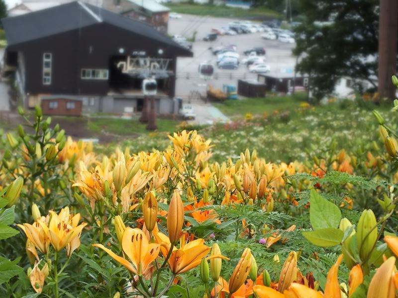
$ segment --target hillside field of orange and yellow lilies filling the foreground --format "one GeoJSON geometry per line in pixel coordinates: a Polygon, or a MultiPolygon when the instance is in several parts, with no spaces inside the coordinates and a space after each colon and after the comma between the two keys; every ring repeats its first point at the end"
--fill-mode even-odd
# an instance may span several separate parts
{"type": "Polygon", "coordinates": [[[396,297],[396,108],[369,108],[107,147],[36,108],[2,137],[0,297],[396,297]]]}

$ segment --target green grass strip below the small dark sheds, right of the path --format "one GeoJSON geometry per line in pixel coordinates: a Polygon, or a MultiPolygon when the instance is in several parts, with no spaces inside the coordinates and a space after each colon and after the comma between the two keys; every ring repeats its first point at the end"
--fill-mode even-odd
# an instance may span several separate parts
{"type": "Polygon", "coordinates": [[[306,101],[305,93],[297,93],[294,96],[269,96],[265,98],[248,98],[242,100],[226,100],[222,103],[214,103],[221,112],[227,116],[239,116],[251,113],[262,115],[273,111],[285,111],[298,108],[306,101]]]}

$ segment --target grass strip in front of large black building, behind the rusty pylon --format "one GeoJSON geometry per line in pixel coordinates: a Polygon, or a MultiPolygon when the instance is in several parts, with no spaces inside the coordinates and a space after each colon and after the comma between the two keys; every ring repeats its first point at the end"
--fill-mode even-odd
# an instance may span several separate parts
{"type": "MultiPolygon", "coordinates": [[[[171,119],[157,119],[156,124],[159,132],[173,132],[179,122],[171,119]]],[[[146,134],[146,124],[140,123],[138,120],[127,119],[109,119],[98,118],[90,119],[87,128],[93,133],[105,131],[107,133],[120,136],[128,136],[132,134],[146,134]]]]}

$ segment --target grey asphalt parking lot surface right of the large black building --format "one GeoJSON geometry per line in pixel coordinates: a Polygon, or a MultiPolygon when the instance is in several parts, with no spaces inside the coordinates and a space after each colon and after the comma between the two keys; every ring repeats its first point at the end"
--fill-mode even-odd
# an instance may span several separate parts
{"type": "Polygon", "coordinates": [[[246,66],[240,65],[237,70],[219,70],[215,68],[215,74],[212,80],[204,81],[199,78],[198,67],[201,62],[210,61],[214,66],[216,56],[211,54],[210,47],[222,45],[236,45],[237,52],[240,54],[240,60],[246,56],[244,50],[251,47],[264,47],[267,51],[265,63],[270,66],[271,72],[283,72],[293,70],[296,58],[292,55],[294,44],[282,43],[278,40],[265,40],[261,38],[262,33],[250,33],[239,35],[218,36],[215,41],[203,41],[203,37],[211,29],[219,29],[228,26],[233,19],[214,18],[208,16],[182,15],[181,19],[169,20],[169,34],[183,35],[191,38],[197,31],[196,42],[193,43],[193,58],[179,58],[177,65],[177,83],[176,95],[188,99],[192,90],[199,91],[203,95],[206,90],[206,83],[211,83],[215,87],[221,88],[225,83],[237,85],[240,78],[257,78],[257,74],[249,72],[246,66]]]}

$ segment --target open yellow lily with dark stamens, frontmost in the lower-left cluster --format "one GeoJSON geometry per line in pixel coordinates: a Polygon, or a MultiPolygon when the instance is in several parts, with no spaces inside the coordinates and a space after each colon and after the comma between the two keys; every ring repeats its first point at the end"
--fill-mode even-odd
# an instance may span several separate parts
{"type": "MultiPolygon", "coordinates": [[[[80,240],[74,241],[73,246],[71,245],[72,240],[76,237],[80,237],[80,234],[86,224],[80,224],[80,214],[75,215],[69,221],[69,209],[66,212],[65,209],[61,210],[60,214],[56,214],[54,211],[50,211],[51,219],[49,226],[47,227],[45,224],[42,224],[43,229],[48,234],[50,238],[50,242],[53,245],[56,251],[60,251],[62,248],[69,246],[69,256],[73,250],[77,247],[77,243],[80,245],[80,240]],[[72,250],[73,249],[73,250],[72,250]]],[[[68,248],[67,248],[68,252],[68,248]]]]}

